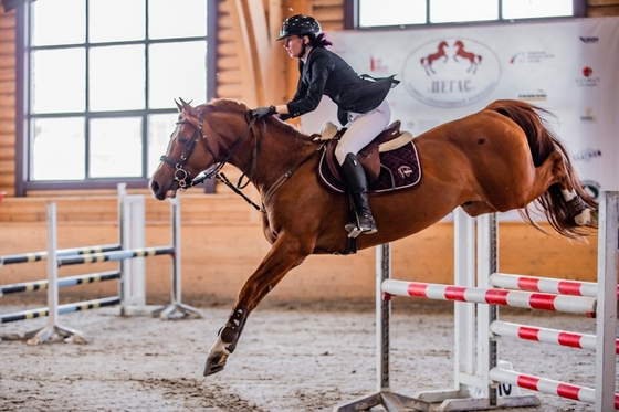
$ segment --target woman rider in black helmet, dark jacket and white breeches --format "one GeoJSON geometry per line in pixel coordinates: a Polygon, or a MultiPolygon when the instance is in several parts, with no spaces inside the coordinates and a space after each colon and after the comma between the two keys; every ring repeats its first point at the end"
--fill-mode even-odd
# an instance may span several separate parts
{"type": "Polygon", "coordinates": [[[285,120],[313,112],[327,95],[337,104],[337,117],[347,130],[339,139],[335,157],[353,197],[357,224],[346,230],[375,233],[376,223],[368,202],[368,183],[357,154],[389,125],[391,109],[385,97],[399,81],[394,76],[371,78],[359,76],[337,54],[326,50],[332,45],[321,24],[310,15],[296,14],[284,21],[277,40],[291,57],[298,57],[298,80],[293,99],[285,105],[258,107],[251,110],[255,118],[279,115],[285,120]]]}

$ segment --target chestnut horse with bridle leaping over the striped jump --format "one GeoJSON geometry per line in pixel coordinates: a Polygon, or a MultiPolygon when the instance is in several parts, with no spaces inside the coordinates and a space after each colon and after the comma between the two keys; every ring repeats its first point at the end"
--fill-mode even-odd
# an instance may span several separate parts
{"type": "MultiPolygon", "coordinates": [[[[167,152],[149,182],[154,197],[175,198],[199,173],[218,177],[223,165],[233,165],[260,193],[262,228],[272,245],[209,350],[203,370],[209,376],[223,370],[248,316],[288,271],[311,254],[344,253],[349,200],[317,177],[322,146],[315,136],[276,117],[256,122],[241,102],[213,99],[196,107],[181,102],[167,152]]],[[[597,228],[598,204],[545,126],[544,112],[524,102],[496,101],[416,137],[421,181],[370,197],[378,232],[360,235],[358,247],[415,234],[458,207],[471,216],[517,210],[543,230],[529,203],[560,235],[585,241],[597,228]]]]}

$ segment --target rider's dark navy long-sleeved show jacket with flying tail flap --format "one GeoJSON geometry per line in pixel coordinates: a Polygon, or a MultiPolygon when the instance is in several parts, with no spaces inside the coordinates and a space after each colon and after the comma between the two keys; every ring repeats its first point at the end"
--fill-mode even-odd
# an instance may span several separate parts
{"type": "Polygon", "coordinates": [[[282,115],[282,119],[316,109],[323,95],[327,95],[337,105],[337,117],[344,125],[348,112],[367,113],[375,109],[389,89],[399,83],[394,76],[377,80],[361,77],[344,59],[325,47],[313,47],[306,63],[300,59],[298,71],[301,76],[296,93],[287,104],[290,115],[282,115]]]}

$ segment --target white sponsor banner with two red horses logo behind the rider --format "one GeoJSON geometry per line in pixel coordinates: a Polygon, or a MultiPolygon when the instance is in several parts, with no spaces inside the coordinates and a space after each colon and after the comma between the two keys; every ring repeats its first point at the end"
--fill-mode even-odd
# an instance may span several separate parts
{"type": "MultiPolygon", "coordinates": [[[[396,74],[387,99],[392,120],[415,136],[521,99],[546,108],[591,194],[619,190],[619,18],[391,31],[328,32],[331,47],[359,73],[396,74]]],[[[302,127],[337,124],[323,98],[302,127]]]]}

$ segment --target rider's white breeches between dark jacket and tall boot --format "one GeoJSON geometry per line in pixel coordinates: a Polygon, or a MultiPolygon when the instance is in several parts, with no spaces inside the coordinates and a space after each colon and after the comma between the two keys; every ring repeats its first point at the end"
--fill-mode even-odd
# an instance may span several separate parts
{"type": "Polygon", "coordinates": [[[342,136],[335,148],[337,162],[342,165],[348,154],[357,155],[359,150],[389,126],[390,120],[391,108],[387,101],[382,101],[371,112],[348,114],[348,123],[345,126],[348,130],[342,136]]]}

